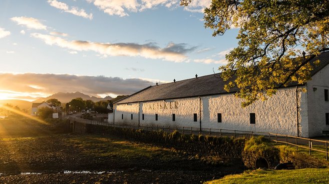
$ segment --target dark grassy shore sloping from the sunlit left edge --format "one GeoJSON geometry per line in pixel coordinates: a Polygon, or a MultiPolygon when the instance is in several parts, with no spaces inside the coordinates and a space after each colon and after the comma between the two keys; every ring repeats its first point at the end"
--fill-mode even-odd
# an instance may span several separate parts
{"type": "Polygon", "coordinates": [[[202,183],[244,169],[239,160],[213,165],[171,146],[52,127],[0,121],[0,183],[202,183]]]}

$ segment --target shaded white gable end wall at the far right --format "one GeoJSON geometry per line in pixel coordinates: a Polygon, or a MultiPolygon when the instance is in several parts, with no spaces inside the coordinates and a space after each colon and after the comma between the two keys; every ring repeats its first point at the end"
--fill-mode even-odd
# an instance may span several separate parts
{"type": "Polygon", "coordinates": [[[307,82],[309,135],[321,136],[322,130],[329,130],[325,124],[325,113],[329,112],[329,101],[324,101],[324,89],[329,89],[329,65],[312,76],[307,82]],[[316,90],[313,90],[313,87],[316,90]]]}

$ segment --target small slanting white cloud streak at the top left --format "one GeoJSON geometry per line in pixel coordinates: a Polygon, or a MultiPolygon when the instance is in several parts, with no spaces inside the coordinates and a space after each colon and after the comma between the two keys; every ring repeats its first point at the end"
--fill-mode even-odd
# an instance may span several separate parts
{"type": "Polygon", "coordinates": [[[88,14],[88,13],[86,13],[86,11],[84,9],[79,9],[78,7],[70,8],[68,4],[66,4],[64,2],[59,2],[57,0],[48,0],[48,3],[51,6],[61,9],[65,12],[72,13],[77,16],[82,16],[84,18],[93,19],[93,13],[88,14]]]}

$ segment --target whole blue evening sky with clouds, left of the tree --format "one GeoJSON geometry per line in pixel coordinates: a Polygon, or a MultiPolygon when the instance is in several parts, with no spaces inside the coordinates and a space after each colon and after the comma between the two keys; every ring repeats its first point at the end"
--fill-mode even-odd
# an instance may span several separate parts
{"type": "Polygon", "coordinates": [[[238,29],[212,36],[210,0],[1,0],[0,99],[115,97],[218,72],[238,29]]]}

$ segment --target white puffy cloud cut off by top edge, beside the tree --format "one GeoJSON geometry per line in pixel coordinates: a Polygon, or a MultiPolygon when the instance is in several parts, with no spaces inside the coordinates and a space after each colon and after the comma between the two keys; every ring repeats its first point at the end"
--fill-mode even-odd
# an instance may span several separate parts
{"type": "MultiPolygon", "coordinates": [[[[128,16],[128,12],[138,12],[157,6],[178,7],[179,0],[87,0],[109,15],[128,16]]],[[[203,12],[210,5],[211,0],[192,0],[184,7],[191,12],[203,12]]]]}

